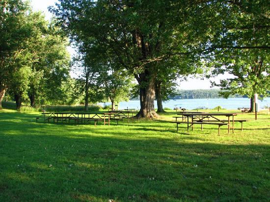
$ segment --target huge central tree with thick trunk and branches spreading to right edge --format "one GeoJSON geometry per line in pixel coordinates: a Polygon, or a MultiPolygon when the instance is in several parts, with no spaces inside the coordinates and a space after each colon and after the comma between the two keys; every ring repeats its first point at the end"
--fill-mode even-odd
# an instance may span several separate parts
{"type": "Polygon", "coordinates": [[[213,52],[218,49],[269,49],[263,41],[242,46],[223,40],[230,39],[226,26],[234,25],[236,12],[254,10],[268,19],[263,0],[60,0],[52,10],[75,41],[92,39],[89,44],[114,55],[135,76],[142,117],[157,116],[155,84],[158,72],[167,68],[159,62],[173,61],[179,64],[172,67],[191,67],[193,72],[202,59],[215,60],[213,52]]]}

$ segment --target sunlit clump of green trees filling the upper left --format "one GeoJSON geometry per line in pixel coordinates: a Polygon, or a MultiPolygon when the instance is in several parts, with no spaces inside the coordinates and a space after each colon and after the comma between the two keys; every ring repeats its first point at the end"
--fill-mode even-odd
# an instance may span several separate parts
{"type": "Polygon", "coordinates": [[[28,97],[31,106],[63,100],[70,58],[61,30],[21,0],[1,1],[0,19],[0,102],[7,89],[18,108],[28,97]]]}

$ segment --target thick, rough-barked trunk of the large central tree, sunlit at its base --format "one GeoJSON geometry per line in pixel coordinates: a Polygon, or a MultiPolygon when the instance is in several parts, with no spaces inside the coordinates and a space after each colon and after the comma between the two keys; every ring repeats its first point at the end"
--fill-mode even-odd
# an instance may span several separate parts
{"type": "MultiPolygon", "coordinates": [[[[142,81],[139,83],[142,84],[142,81]]],[[[145,84],[145,83],[144,83],[145,84]]],[[[159,117],[154,108],[155,78],[151,77],[148,85],[140,85],[140,111],[138,115],[143,118],[159,117]]]]}

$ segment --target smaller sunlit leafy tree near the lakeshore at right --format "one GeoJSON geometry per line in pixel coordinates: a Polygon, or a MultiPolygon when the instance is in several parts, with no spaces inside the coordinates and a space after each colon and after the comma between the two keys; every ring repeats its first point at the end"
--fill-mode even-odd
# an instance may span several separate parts
{"type": "Polygon", "coordinates": [[[230,95],[247,95],[250,98],[250,111],[254,111],[254,95],[260,95],[260,99],[269,96],[270,89],[270,56],[267,51],[232,51],[227,53],[230,64],[222,66],[216,73],[224,71],[235,76],[234,78],[222,79],[219,86],[220,95],[228,98],[230,95]]]}

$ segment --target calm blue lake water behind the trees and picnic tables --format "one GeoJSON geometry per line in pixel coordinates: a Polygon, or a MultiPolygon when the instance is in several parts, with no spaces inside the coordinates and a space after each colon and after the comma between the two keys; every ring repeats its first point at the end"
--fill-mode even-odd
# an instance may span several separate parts
{"type": "MultiPolygon", "coordinates": [[[[99,103],[104,105],[104,103],[99,103]]],[[[109,105],[110,102],[106,102],[109,105]]],[[[259,101],[259,108],[264,108],[264,106],[270,106],[270,98],[264,99],[264,101],[259,101]]],[[[249,107],[250,100],[248,98],[217,98],[217,99],[183,99],[183,100],[169,100],[163,102],[163,107],[168,107],[173,109],[174,107],[182,107],[186,109],[196,109],[197,107],[207,107],[213,109],[216,106],[221,106],[225,109],[237,109],[238,107],[249,107]]],[[[123,101],[118,104],[118,109],[139,109],[139,101],[123,101]]],[[[155,108],[157,108],[157,101],[155,101],[155,108]]]]}

